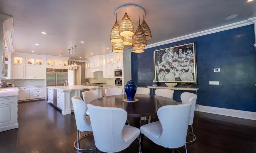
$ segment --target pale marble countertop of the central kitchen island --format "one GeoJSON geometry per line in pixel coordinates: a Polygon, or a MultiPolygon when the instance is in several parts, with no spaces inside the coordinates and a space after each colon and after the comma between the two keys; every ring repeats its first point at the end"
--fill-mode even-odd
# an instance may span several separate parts
{"type": "Polygon", "coordinates": [[[102,87],[73,85],[73,86],[52,86],[52,87],[50,86],[47,88],[53,88],[60,91],[73,91],[73,90],[84,90],[84,89],[100,89],[102,87]]]}

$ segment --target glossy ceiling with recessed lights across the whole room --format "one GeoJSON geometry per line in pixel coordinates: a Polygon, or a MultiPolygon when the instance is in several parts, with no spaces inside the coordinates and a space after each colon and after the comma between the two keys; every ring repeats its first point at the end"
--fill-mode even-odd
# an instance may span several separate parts
{"type": "Polygon", "coordinates": [[[152,32],[152,39],[147,42],[150,45],[256,16],[256,0],[246,1],[0,0],[0,11],[13,16],[16,52],[68,56],[69,47],[84,41],[76,53],[84,58],[111,51],[109,37],[115,23],[114,12],[125,4],[144,8],[152,32]],[[232,14],[238,17],[225,20],[232,14]]]}

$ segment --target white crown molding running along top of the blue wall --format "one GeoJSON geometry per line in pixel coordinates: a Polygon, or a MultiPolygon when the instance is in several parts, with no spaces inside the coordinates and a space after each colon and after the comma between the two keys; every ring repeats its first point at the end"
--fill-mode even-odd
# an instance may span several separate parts
{"type": "Polygon", "coordinates": [[[160,45],[165,45],[165,44],[169,44],[169,43],[174,43],[176,41],[181,41],[181,40],[185,40],[185,39],[189,39],[189,38],[199,37],[199,36],[203,36],[203,35],[207,35],[207,34],[211,34],[211,33],[216,33],[216,32],[220,32],[220,31],[225,31],[225,30],[229,30],[229,29],[243,27],[243,26],[247,26],[247,25],[250,25],[250,24],[253,24],[253,23],[256,22],[256,17],[250,18],[250,19],[245,20],[245,21],[232,23],[232,24],[228,24],[226,26],[217,27],[217,28],[213,28],[213,29],[209,29],[209,30],[205,30],[205,31],[201,31],[201,32],[197,32],[197,33],[193,33],[193,34],[189,34],[189,35],[185,35],[185,36],[181,36],[181,37],[161,41],[161,42],[158,42],[158,43],[150,44],[150,45],[147,45],[145,47],[145,49],[160,46],[160,45]]]}

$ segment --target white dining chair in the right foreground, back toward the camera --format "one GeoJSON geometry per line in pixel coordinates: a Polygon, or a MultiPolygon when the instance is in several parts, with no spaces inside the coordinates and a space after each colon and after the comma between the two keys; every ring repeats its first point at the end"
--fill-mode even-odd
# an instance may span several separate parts
{"type": "MultiPolygon", "coordinates": [[[[159,121],[141,126],[140,131],[159,146],[175,149],[185,145],[192,102],[158,109],[159,121]]],[[[173,150],[172,150],[173,151],[173,150]]]]}

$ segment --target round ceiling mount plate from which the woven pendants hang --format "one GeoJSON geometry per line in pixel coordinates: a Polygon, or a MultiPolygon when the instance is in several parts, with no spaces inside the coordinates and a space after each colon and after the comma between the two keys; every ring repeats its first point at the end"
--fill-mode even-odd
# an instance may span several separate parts
{"type": "Polygon", "coordinates": [[[140,9],[140,21],[143,21],[143,16],[146,16],[145,10],[137,5],[124,5],[119,8],[114,13],[114,16],[116,17],[117,13],[117,20],[119,20],[119,24],[122,20],[122,18],[125,15],[125,8],[126,8],[126,13],[130,17],[132,23],[137,23],[139,21],[139,9],[140,9]]]}

